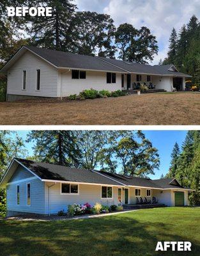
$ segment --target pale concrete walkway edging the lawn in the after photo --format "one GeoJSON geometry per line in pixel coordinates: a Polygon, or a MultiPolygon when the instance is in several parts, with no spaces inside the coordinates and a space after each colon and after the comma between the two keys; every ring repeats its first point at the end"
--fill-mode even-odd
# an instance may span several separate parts
{"type": "Polygon", "coordinates": [[[96,215],[83,215],[83,216],[75,216],[69,218],[67,216],[16,216],[16,217],[9,217],[6,220],[20,220],[20,221],[59,221],[59,220],[84,220],[84,219],[93,219],[93,218],[102,218],[107,216],[112,216],[116,214],[123,214],[127,212],[139,211],[139,209],[133,210],[125,210],[121,212],[109,212],[103,214],[96,214],[96,215]]]}

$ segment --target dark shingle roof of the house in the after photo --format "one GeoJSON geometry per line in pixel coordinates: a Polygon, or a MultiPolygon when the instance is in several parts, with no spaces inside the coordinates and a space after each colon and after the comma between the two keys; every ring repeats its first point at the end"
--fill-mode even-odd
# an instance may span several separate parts
{"type": "Polygon", "coordinates": [[[107,184],[122,186],[138,186],[144,188],[157,188],[157,189],[167,189],[167,188],[183,188],[174,181],[174,179],[143,179],[139,177],[127,177],[125,175],[119,175],[116,173],[100,172],[83,170],[77,168],[70,168],[66,166],[61,166],[58,164],[49,163],[36,163],[32,160],[15,158],[21,164],[26,166],[31,172],[35,173],[38,177],[45,180],[61,180],[69,182],[84,182],[84,183],[94,183],[94,184],[107,184]]]}

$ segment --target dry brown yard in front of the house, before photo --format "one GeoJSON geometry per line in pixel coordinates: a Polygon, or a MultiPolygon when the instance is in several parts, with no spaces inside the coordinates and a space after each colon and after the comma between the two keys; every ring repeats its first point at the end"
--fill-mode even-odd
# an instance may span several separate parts
{"type": "Polygon", "coordinates": [[[0,125],[200,125],[200,93],[0,102],[0,125]]]}

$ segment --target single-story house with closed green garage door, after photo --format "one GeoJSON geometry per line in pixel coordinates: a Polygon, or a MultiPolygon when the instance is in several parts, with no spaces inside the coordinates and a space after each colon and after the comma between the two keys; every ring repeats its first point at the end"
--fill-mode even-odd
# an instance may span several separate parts
{"type": "Polygon", "coordinates": [[[159,204],[188,205],[188,191],[176,179],[142,179],[125,175],[36,163],[14,158],[0,184],[6,188],[8,216],[22,212],[57,214],[68,205],[133,205],[155,196],[159,204]]]}

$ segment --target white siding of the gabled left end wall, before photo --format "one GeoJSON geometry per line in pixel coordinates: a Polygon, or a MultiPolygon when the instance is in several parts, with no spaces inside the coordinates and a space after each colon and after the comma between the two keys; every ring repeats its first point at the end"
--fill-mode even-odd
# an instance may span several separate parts
{"type": "Polygon", "coordinates": [[[8,70],[8,94],[58,97],[58,70],[27,51],[8,70]],[[36,90],[36,70],[40,69],[40,91],[36,90]],[[22,73],[26,70],[26,90],[22,90],[22,73]]]}

